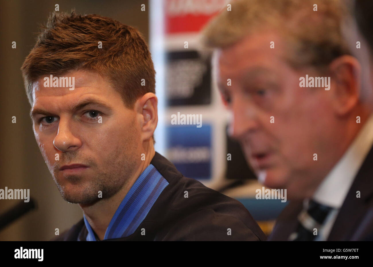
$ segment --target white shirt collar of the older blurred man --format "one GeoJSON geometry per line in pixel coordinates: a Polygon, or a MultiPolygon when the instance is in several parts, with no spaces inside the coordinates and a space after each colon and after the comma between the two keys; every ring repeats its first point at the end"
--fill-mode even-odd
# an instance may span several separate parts
{"type": "Polygon", "coordinates": [[[352,182],[373,145],[373,114],[361,128],[341,159],[332,168],[313,195],[320,204],[340,208],[352,182]]]}

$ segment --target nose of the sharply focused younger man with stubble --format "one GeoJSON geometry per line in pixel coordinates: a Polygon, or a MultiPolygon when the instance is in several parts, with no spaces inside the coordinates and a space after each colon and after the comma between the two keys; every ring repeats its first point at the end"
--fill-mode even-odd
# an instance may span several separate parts
{"type": "Polygon", "coordinates": [[[54,137],[53,145],[60,151],[75,150],[82,145],[81,140],[74,136],[72,125],[68,119],[60,118],[58,132],[56,137],[54,137]]]}

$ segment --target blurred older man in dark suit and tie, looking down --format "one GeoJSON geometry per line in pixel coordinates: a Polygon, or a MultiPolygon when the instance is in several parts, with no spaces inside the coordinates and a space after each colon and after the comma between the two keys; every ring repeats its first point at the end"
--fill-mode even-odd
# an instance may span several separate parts
{"type": "Polygon", "coordinates": [[[290,203],[269,240],[361,240],[373,229],[372,91],[342,38],[341,1],[235,1],[203,32],[231,134],[290,203]]]}

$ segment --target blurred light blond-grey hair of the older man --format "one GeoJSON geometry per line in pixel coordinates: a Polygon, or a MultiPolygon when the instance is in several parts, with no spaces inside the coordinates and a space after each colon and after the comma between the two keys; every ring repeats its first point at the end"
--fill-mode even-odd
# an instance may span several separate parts
{"type": "MultiPolygon", "coordinates": [[[[341,32],[347,10],[341,0],[238,0],[223,9],[202,32],[209,48],[231,46],[250,34],[272,30],[287,42],[286,58],[294,67],[325,68],[333,59],[350,55],[341,32]]],[[[269,46],[269,44],[266,44],[269,46]]]]}

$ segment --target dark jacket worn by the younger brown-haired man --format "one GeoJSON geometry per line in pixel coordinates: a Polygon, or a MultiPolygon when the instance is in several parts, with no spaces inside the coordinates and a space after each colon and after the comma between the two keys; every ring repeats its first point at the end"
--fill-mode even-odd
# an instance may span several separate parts
{"type": "MultiPolygon", "coordinates": [[[[127,237],[109,240],[266,240],[247,209],[235,199],[186,178],[159,153],[151,164],[169,182],[144,221],[127,237]],[[184,198],[188,191],[188,198],[184,198]],[[141,235],[141,229],[145,235],[141,235]],[[231,235],[227,235],[228,228],[231,235]]],[[[80,220],[54,240],[85,240],[80,220]]]]}

